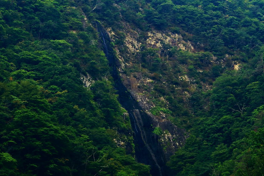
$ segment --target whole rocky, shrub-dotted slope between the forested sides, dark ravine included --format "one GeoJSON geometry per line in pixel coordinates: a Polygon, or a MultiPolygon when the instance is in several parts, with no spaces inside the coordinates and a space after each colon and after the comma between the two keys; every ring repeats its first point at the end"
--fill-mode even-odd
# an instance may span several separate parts
{"type": "MultiPolygon", "coordinates": [[[[231,61],[228,54],[219,58],[203,52],[201,46],[195,49],[192,42],[175,32],[155,28],[141,31],[126,22],[115,30],[97,25],[103,30],[98,32],[106,55],[111,50],[111,58],[107,57],[114,78],[120,79],[116,89],[130,116],[137,161],[151,165],[152,175],[167,175],[165,163],[185,144],[194,123],[195,101],[201,101],[195,95],[211,90],[221,70],[238,70],[239,61],[231,61]],[[123,42],[115,45],[120,38],[123,42]],[[184,57],[191,58],[186,61],[184,57]],[[128,92],[125,97],[120,93],[124,90],[128,92]]],[[[205,101],[199,108],[209,106],[205,101]]]]}

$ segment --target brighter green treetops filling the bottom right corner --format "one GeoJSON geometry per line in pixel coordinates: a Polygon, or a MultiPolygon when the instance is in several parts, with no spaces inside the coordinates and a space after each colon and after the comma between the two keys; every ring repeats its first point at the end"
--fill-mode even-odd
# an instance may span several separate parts
{"type": "Polygon", "coordinates": [[[254,175],[263,173],[263,128],[252,131],[247,138],[235,143],[231,160],[216,164],[216,172],[221,175],[254,175]]]}

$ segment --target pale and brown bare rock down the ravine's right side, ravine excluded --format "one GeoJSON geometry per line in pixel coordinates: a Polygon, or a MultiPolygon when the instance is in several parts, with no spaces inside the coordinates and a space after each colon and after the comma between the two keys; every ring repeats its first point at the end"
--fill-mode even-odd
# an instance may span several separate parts
{"type": "MultiPolygon", "coordinates": [[[[148,114],[148,123],[150,123],[149,125],[151,125],[149,126],[148,129],[150,135],[153,135],[152,131],[155,127],[159,127],[161,128],[162,131],[166,131],[166,134],[156,137],[157,138],[156,142],[159,144],[160,148],[162,148],[161,150],[163,150],[164,153],[165,158],[163,158],[163,162],[166,162],[166,160],[170,157],[170,155],[172,155],[175,152],[178,146],[184,144],[185,139],[187,137],[184,135],[185,131],[183,129],[174,126],[169,120],[166,119],[165,114],[162,115],[162,113],[160,113],[161,114],[160,116],[154,116],[153,114],[150,113],[150,109],[155,107],[155,105],[147,97],[144,96],[144,92],[142,92],[142,90],[139,89],[138,86],[142,83],[145,84],[145,82],[146,83],[153,82],[152,79],[143,77],[142,75],[140,75],[140,73],[139,75],[137,75],[137,77],[128,77],[122,72],[125,65],[129,65],[129,66],[132,65],[131,62],[133,62],[133,60],[136,59],[135,56],[140,51],[140,47],[142,44],[146,45],[147,48],[158,48],[160,50],[162,48],[162,43],[170,44],[177,48],[181,48],[182,50],[193,50],[194,48],[189,41],[182,40],[181,35],[174,34],[171,32],[164,32],[164,31],[152,30],[145,34],[147,35],[147,39],[145,41],[140,42],[141,40],[139,39],[139,35],[141,33],[133,30],[128,24],[124,26],[125,27],[122,30],[122,32],[126,34],[124,40],[124,45],[126,46],[126,55],[121,55],[119,48],[117,47],[115,48],[117,59],[121,63],[120,64],[121,67],[119,67],[118,70],[119,73],[121,73],[123,84],[130,91],[131,99],[132,98],[135,99],[138,102],[138,105],[140,106],[142,111],[148,114]],[[126,62],[124,57],[127,58],[126,62]]],[[[110,36],[111,40],[113,41],[116,40],[117,36],[111,30],[111,28],[107,29],[107,33],[110,36]]],[[[182,79],[187,79],[188,81],[190,81],[190,79],[187,76],[182,77],[182,79]]],[[[134,119],[136,121],[140,120],[139,115],[134,114],[134,119]]],[[[131,121],[131,124],[132,123],[133,121],[131,121]]],[[[140,125],[140,123],[137,125],[140,125]]],[[[146,131],[146,129],[144,130],[146,131]]],[[[142,161],[142,162],[146,163],[146,161],[142,161]]]]}

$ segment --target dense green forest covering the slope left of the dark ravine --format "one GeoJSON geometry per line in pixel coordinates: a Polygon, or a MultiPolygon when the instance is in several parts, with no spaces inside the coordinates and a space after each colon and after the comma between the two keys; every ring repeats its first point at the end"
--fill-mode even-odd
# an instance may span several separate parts
{"type": "Polygon", "coordinates": [[[132,145],[131,125],[90,3],[0,1],[0,175],[150,175],[114,142],[132,145]],[[83,87],[81,73],[97,81],[83,87]]]}

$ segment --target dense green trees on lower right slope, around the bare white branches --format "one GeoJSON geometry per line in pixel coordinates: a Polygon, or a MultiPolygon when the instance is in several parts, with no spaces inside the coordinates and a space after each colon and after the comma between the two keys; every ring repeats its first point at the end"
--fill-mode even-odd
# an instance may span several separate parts
{"type": "Polygon", "coordinates": [[[201,111],[183,148],[168,166],[177,175],[258,175],[263,172],[263,74],[227,71],[214,82],[211,109],[201,111]],[[252,98],[251,98],[252,97],[252,98]],[[253,98],[254,97],[254,98],[253,98]],[[261,99],[261,100],[260,100],[261,99]],[[254,130],[254,131],[252,131],[254,130]],[[256,132],[255,132],[256,131],[256,132]]]}

